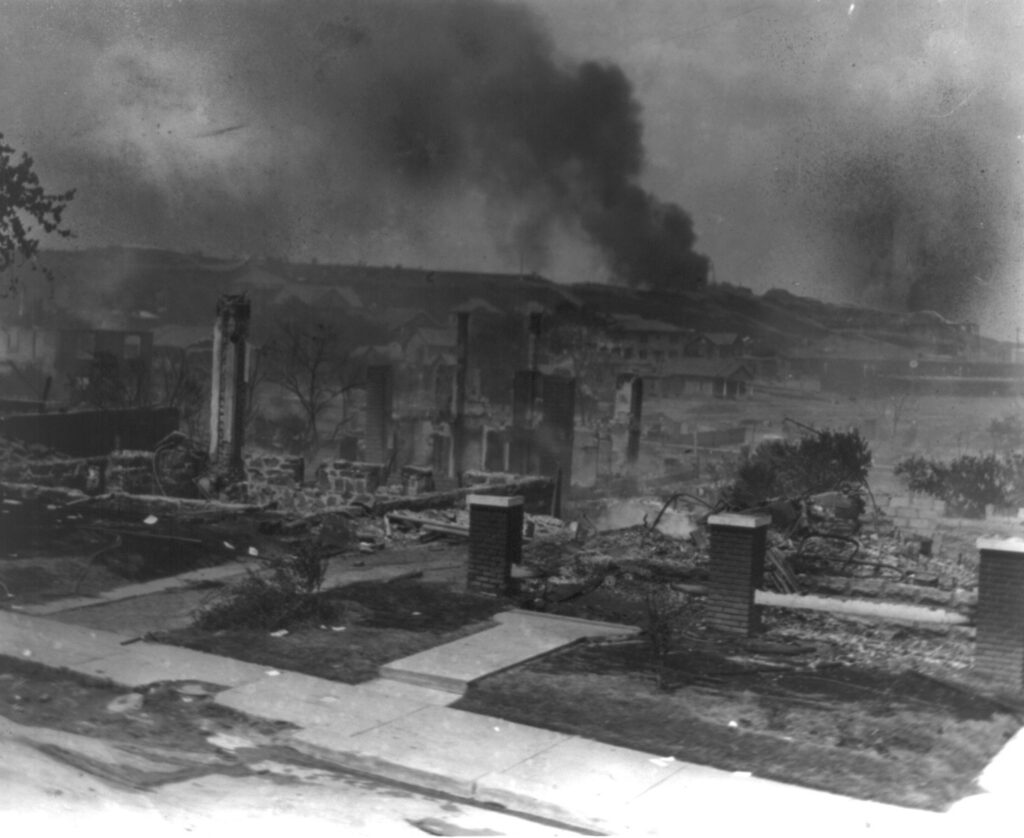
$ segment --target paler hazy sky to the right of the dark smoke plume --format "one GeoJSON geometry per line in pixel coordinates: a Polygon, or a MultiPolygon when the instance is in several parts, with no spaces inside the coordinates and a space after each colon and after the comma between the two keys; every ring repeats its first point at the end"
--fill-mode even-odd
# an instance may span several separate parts
{"type": "Polygon", "coordinates": [[[560,48],[618,61],[645,182],[694,213],[715,278],[936,308],[1012,337],[1024,311],[1019,0],[560,0],[560,48]]]}

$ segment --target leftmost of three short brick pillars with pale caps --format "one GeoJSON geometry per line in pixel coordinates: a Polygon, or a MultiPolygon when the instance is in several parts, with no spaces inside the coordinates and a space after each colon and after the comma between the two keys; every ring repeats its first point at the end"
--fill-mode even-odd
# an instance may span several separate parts
{"type": "Polygon", "coordinates": [[[469,572],[471,591],[501,596],[512,582],[512,564],[522,558],[522,497],[470,495],[469,572]]]}

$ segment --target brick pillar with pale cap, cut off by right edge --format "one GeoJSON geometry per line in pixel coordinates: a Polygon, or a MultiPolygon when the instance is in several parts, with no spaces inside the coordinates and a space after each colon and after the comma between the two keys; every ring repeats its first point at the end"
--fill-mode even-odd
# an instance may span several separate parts
{"type": "Polygon", "coordinates": [[[978,539],[978,626],[974,667],[1024,688],[1024,538],[978,539]]]}

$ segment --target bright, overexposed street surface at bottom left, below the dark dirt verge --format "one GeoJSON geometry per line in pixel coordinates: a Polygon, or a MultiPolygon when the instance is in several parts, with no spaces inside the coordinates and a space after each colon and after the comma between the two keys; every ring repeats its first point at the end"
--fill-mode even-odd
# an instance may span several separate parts
{"type": "MultiPolygon", "coordinates": [[[[98,741],[97,741],[98,742],[98,741]]],[[[7,835],[568,835],[547,825],[433,799],[373,781],[274,760],[247,777],[208,774],[147,790],[99,779],[0,736],[0,812],[7,835]],[[441,830],[447,829],[447,832],[441,830]],[[31,833],[30,833],[31,830],[31,833]],[[456,831],[461,830],[461,831],[456,831]]]]}

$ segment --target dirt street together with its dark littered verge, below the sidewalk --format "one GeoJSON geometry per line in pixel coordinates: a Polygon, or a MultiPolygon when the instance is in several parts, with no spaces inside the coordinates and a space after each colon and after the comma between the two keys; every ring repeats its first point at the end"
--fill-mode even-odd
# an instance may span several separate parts
{"type": "Polygon", "coordinates": [[[558,836],[306,758],[198,682],[130,692],[0,658],[4,835],[558,836]],[[461,830],[461,831],[460,831],[461,830]]]}

